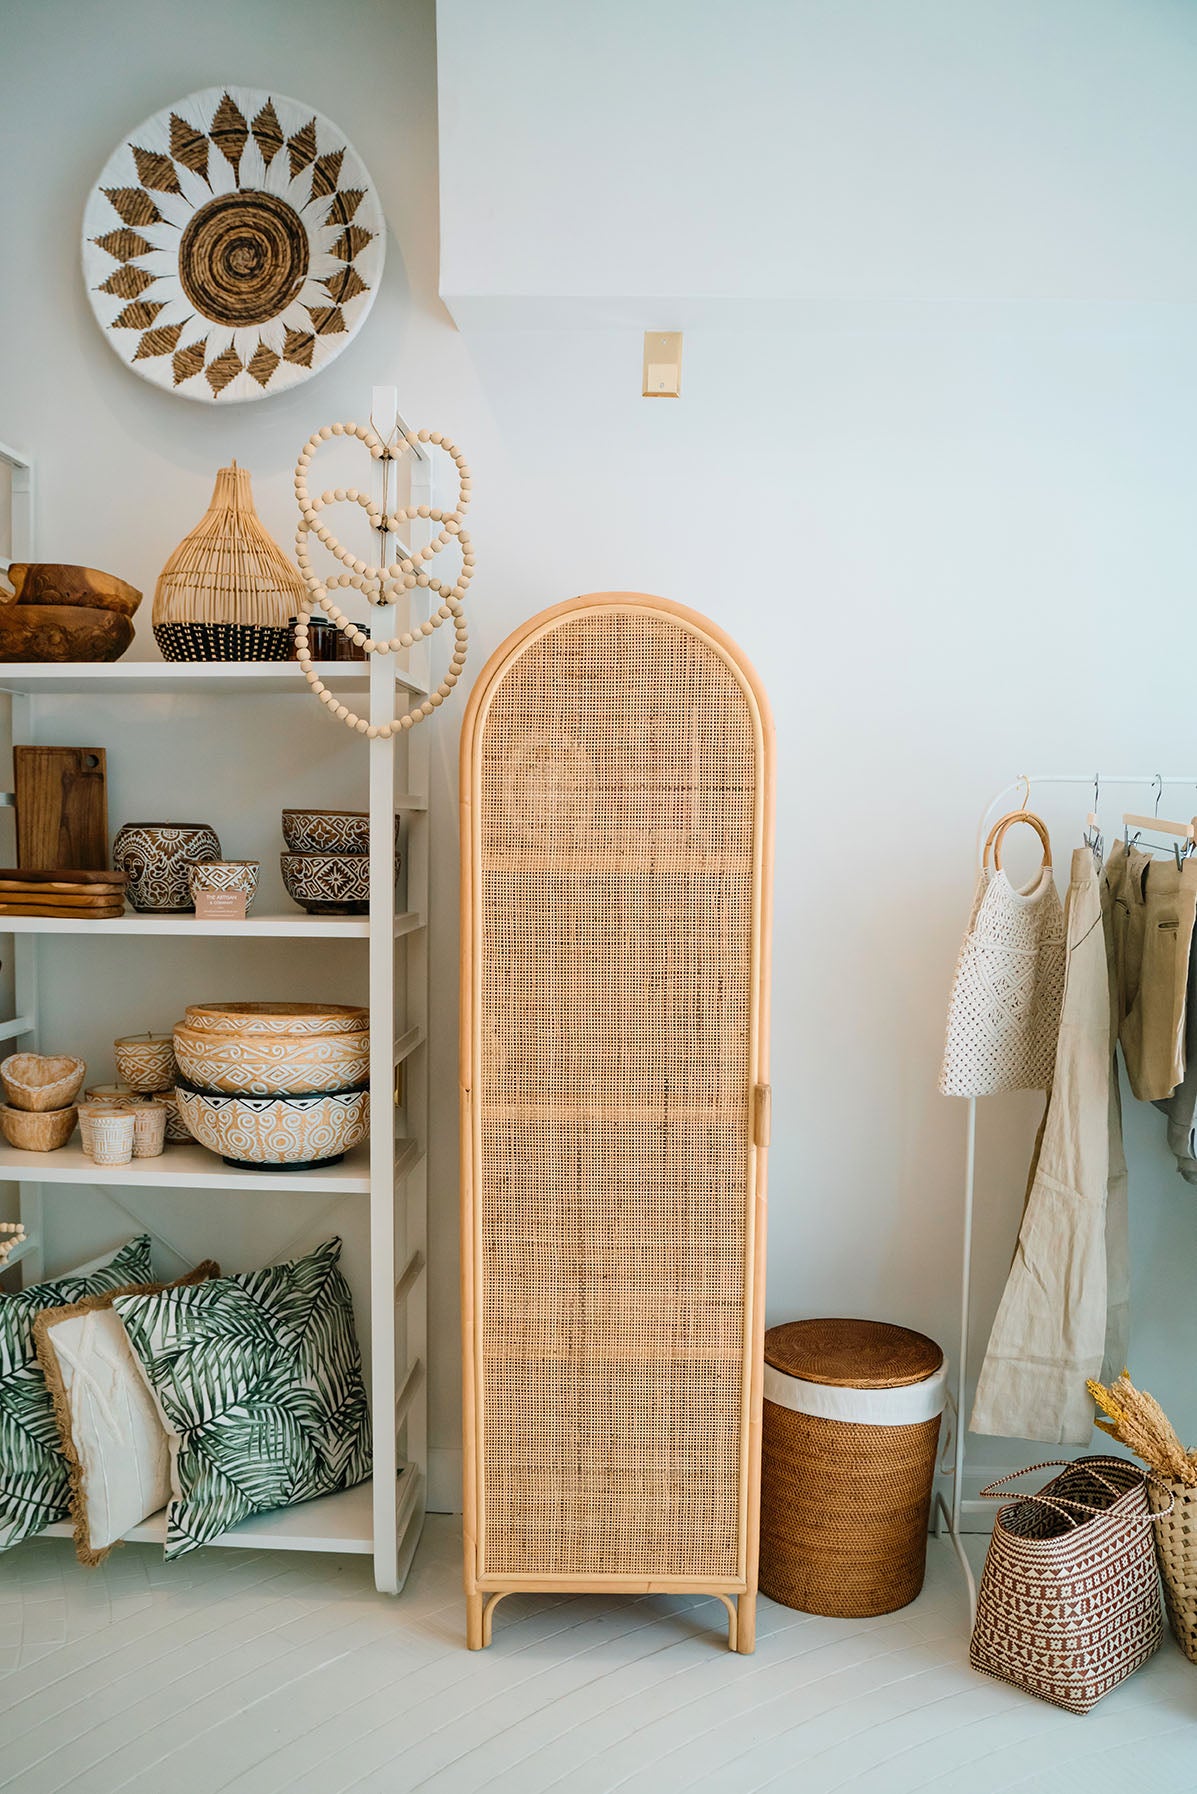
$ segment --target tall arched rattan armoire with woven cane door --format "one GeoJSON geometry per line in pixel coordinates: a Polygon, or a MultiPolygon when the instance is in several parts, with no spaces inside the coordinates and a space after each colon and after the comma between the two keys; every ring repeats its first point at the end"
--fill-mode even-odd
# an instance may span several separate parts
{"type": "Polygon", "coordinates": [[[468,1643],[517,1591],[756,1633],[773,739],[712,623],[533,617],[461,737],[468,1643]]]}

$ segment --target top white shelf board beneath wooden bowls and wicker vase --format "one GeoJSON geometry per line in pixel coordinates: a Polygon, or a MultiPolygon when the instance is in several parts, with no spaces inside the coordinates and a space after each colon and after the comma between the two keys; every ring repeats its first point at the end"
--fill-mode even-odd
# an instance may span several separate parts
{"type": "MultiPolygon", "coordinates": [[[[370,691],[370,666],[357,660],[316,664],[330,691],[370,691]]],[[[395,684],[416,696],[422,680],[395,669],[395,684]]],[[[23,696],[287,696],[307,685],[294,660],[72,660],[65,664],[11,660],[0,664],[0,691],[23,696]]]]}

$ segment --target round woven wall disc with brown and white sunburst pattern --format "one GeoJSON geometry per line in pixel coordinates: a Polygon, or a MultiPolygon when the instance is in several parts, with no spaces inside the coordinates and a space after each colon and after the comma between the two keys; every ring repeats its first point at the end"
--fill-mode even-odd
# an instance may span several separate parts
{"type": "Polygon", "coordinates": [[[147,118],[83,215],[104,335],[135,373],[208,404],[319,373],[361,330],[384,251],[345,133],[251,88],[206,88],[147,118]]]}

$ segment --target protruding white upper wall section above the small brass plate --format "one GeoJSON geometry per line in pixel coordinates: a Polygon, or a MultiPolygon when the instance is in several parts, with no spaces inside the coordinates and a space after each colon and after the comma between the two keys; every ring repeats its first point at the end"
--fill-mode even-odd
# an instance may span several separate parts
{"type": "Polygon", "coordinates": [[[1197,239],[1175,228],[1197,197],[1184,0],[440,0],[436,16],[458,318],[1197,292],[1197,239]]]}

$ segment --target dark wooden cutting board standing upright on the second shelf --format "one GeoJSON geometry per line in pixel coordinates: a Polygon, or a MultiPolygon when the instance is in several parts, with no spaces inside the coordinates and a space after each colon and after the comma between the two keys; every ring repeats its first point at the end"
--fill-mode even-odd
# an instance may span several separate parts
{"type": "Polygon", "coordinates": [[[104,748],[13,748],[13,784],[22,872],[108,867],[104,748]]]}

